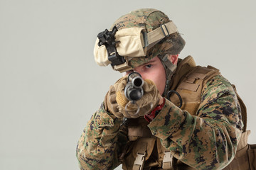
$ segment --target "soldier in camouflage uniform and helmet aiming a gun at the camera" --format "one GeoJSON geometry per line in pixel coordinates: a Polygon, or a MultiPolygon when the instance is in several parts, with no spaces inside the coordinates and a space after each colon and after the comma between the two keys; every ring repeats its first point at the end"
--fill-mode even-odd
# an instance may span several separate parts
{"type": "Polygon", "coordinates": [[[245,106],[218,69],[196,66],[191,56],[178,59],[185,41],[168,16],[142,8],[97,37],[97,64],[111,64],[124,77],[82,132],[80,169],[238,168],[230,162],[247,146],[239,142],[249,134],[245,106]],[[144,81],[137,101],[124,94],[134,72],[144,81]]]}

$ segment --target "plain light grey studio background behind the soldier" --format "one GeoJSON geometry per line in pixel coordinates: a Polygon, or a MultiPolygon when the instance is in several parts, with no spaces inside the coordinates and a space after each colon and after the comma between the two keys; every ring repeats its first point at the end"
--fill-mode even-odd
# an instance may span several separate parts
{"type": "Polygon", "coordinates": [[[236,84],[256,143],[255,2],[0,0],[0,169],[78,169],[80,134],[120,77],[95,64],[97,33],[145,7],[174,20],[181,58],[236,84]]]}

